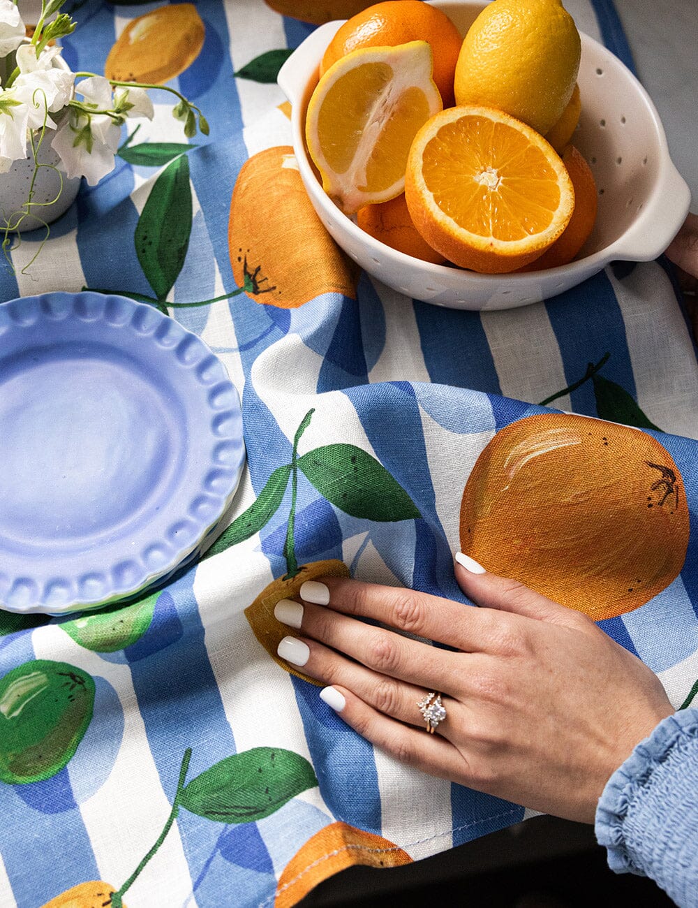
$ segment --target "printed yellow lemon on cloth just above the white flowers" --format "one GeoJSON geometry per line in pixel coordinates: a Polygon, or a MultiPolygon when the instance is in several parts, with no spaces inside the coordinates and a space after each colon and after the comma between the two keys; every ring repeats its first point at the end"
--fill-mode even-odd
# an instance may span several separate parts
{"type": "Polygon", "coordinates": [[[196,6],[161,6],[126,25],[107,56],[104,75],[117,82],[169,82],[201,54],[204,37],[196,6]]]}

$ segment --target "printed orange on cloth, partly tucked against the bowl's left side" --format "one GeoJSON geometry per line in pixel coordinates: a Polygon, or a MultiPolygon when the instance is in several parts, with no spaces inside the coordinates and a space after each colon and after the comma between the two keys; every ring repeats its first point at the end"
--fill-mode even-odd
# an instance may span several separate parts
{"type": "Polygon", "coordinates": [[[356,268],[329,236],[303,188],[290,145],[253,154],[231,197],[228,248],[240,286],[260,274],[260,302],[295,309],[321,293],[356,299],[356,268]]]}

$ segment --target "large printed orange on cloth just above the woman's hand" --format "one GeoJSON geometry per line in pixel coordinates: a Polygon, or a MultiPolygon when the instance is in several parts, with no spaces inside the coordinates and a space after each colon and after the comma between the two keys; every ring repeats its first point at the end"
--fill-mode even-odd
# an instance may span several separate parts
{"type": "Polygon", "coordinates": [[[496,433],[467,479],[462,551],[599,620],[678,576],[689,537],[679,469],[651,435],[543,413],[496,433]]]}

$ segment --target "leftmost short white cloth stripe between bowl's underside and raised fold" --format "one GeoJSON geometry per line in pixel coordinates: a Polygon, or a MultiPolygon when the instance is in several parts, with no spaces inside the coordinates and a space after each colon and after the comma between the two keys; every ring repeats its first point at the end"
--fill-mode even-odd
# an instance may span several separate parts
{"type": "Polygon", "coordinates": [[[371,280],[383,303],[386,341],[378,362],[369,372],[369,381],[430,381],[411,299],[380,281],[371,280]]]}

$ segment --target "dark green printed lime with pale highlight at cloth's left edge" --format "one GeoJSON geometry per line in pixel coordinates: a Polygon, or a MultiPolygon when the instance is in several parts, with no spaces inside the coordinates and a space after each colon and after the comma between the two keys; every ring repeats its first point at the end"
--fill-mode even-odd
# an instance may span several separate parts
{"type": "Polygon", "coordinates": [[[66,662],[33,659],[0,678],[0,780],[38,782],[60,772],[93,716],[94,681],[66,662]]]}

